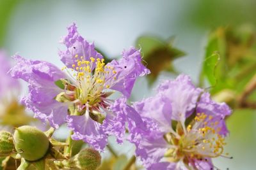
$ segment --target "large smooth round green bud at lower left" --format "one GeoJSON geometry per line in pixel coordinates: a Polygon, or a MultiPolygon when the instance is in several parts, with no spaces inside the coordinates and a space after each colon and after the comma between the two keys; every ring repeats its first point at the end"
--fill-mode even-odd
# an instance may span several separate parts
{"type": "Polygon", "coordinates": [[[15,129],[13,139],[17,152],[29,161],[42,159],[49,149],[49,139],[44,132],[29,125],[15,129]]]}

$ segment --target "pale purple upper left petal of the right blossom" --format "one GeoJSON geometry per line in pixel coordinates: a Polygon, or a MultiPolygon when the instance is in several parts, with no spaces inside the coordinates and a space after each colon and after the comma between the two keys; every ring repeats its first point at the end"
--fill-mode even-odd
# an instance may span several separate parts
{"type": "Polygon", "coordinates": [[[168,97],[159,94],[136,102],[133,107],[141,117],[154,120],[158,124],[159,131],[167,133],[172,129],[172,104],[168,97]]]}

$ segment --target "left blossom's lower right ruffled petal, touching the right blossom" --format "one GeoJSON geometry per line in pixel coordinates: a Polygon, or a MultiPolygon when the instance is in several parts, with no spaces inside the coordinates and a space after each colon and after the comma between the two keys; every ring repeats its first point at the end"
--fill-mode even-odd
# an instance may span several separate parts
{"type": "Polygon", "coordinates": [[[120,98],[110,106],[112,113],[108,113],[103,122],[103,129],[109,135],[116,136],[116,141],[122,143],[125,128],[129,130],[129,141],[133,141],[141,133],[147,131],[147,124],[140,115],[126,104],[126,98],[120,98]]]}

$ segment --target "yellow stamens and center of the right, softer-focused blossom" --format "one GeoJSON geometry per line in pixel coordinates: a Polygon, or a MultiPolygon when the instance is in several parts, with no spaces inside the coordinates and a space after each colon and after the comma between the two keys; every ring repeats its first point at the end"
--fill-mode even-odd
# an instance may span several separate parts
{"type": "Polygon", "coordinates": [[[172,162],[182,160],[186,163],[194,159],[221,156],[226,143],[219,134],[218,125],[218,121],[204,113],[198,113],[186,129],[179,122],[174,134],[164,135],[164,139],[173,146],[166,152],[165,157],[171,158],[172,162]]]}

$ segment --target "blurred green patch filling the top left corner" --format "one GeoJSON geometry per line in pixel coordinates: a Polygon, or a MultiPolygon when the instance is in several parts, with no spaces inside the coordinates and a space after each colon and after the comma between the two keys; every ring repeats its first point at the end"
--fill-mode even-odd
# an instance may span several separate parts
{"type": "Polygon", "coordinates": [[[19,1],[17,0],[1,0],[0,1],[0,46],[4,44],[6,31],[8,30],[8,23],[12,15],[14,7],[19,1]]]}

